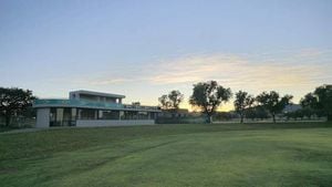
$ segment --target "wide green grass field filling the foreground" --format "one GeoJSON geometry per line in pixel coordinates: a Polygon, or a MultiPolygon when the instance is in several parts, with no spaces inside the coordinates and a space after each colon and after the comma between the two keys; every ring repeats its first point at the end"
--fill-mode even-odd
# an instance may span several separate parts
{"type": "Polygon", "coordinates": [[[332,186],[332,124],[0,134],[0,186],[332,186]]]}

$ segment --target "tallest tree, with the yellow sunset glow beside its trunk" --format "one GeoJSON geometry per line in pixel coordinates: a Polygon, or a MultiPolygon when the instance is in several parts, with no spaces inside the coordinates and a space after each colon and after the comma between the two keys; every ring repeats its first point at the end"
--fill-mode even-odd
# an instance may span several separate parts
{"type": "Polygon", "coordinates": [[[194,84],[193,95],[189,103],[199,107],[207,115],[207,122],[211,123],[211,117],[217,107],[222,102],[228,102],[231,97],[230,89],[218,85],[216,81],[200,82],[194,84]]]}

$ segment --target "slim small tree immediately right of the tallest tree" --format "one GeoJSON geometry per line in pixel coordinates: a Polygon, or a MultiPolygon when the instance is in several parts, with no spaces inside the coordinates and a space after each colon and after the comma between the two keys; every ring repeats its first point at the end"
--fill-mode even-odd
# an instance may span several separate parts
{"type": "Polygon", "coordinates": [[[236,93],[236,100],[234,102],[234,106],[235,106],[236,112],[241,117],[241,123],[243,123],[243,116],[245,116],[246,110],[251,107],[253,102],[255,102],[255,98],[251,95],[249,95],[247,92],[239,91],[238,93],[236,93]]]}

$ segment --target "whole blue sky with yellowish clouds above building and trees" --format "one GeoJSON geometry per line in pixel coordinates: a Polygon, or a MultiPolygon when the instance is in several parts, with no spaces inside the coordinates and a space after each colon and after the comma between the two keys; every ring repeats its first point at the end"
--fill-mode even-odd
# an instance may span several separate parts
{"type": "MultiPolygon", "coordinates": [[[[332,83],[331,0],[0,0],[0,86],[157,105],[193,85],[292,94],[332,83]]],[[[219,110],[228,111],[232,104],[219,110]]]]}

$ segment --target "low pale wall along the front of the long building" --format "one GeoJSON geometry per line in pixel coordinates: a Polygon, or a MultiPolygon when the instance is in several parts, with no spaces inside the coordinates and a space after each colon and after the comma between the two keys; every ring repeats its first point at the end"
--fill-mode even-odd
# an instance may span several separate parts
{"type": "Polygon", "coordinates": [[[77,120],[79,127],[93,126],[134,126],[134,125],[154,125],[154,120],[137,120],[137,121],[112,121],[112,120],[77,120]]]}

